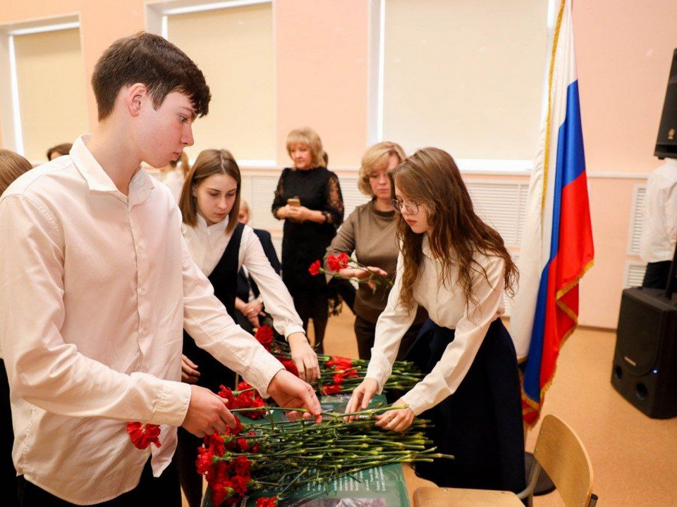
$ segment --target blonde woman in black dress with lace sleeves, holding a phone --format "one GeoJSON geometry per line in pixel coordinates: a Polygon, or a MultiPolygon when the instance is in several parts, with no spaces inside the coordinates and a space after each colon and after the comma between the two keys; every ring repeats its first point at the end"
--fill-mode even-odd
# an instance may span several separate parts
{"type": "Polygon", "coordinates": [[[307,127],[289,132],[287,153],[293,167],[282,171],[272,206],[274,217],[284,220],[282,280],[306,332],[312,319],[317,353],[323,353],[329,318],[327,282],[323,276],[311,276],[308,268],[324,257],[343,222],[343,196],[338,177],[327,170],[317,132],[307,127]]]}

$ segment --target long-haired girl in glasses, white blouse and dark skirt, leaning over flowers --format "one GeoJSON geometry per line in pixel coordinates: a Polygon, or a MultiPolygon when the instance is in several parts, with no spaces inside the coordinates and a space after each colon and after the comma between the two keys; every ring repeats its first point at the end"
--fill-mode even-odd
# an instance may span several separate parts
{"type": "Polygon", "coordinates": [[[504,290],[517,268],[503,239],[472,208],[461,173],[445,151],[425,148],[394,170],[401,244],[396,280],[377,327],[364,382],[346,412],[366,408],[388,379],[418,306],[429,320],[408,358],[424,379],[397,408],[377,416],[386,430],[430,419],[429,437],[456,457],[417,463],[444,487],[525,486],[520,384],[515,349],[501,323],[504,290]]]}

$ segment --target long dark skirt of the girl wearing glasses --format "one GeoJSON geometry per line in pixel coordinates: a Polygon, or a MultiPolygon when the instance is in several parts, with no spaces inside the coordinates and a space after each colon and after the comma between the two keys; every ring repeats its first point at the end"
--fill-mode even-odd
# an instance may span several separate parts
{"type": "MultiPolygon", "coordinates": [[[[427,320],[408,359],[425,373],[453,342],[454,330],[427,320]]],[[[496,319],[489,326],[470,370],[456,392],[420,414],[437,451],[455,459],[416,463],[416,474],[440,487],[525,488],[524,430],[515,346],[496,319]]]]}

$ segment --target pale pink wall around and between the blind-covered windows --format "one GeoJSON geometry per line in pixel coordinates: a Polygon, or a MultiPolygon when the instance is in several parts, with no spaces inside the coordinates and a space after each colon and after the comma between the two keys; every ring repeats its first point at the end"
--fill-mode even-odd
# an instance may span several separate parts
{"type": "MultiPolygon", "coordinates": [[[[10,0],[0,10],[0,24],[79,12],[89,80],[106,46],[145,27],[144,5],[143,0],[10,0]]],[[[367,0],[274,2],[279,165],[288,163],[287,132],[302,125],[322,136],[332,166],[358,165],[368,128],[368,5],[367,0]]],[[[626,255],[633,186],[644,182],[619,176],[647,174],[659,165],[652,153],[676,26],[674,0],[575,0],[596,247],[594,268],[581,284],[583,325],[615,327],[618,319],[625,263],[633,260],[626,255]]],[[[87,104],[94,125],[91,92],[87,104]]]]}

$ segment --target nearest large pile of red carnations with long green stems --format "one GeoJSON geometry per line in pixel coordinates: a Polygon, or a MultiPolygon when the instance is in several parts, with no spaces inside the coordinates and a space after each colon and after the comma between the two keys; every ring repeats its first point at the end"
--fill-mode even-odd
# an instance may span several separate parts
{"type": "MultiPolygon", "coordinates": [[[[276,506],[294,489],[310,482],[327,482],[341,475],[391,463],[453,458],[435,453],[422,429],[426,420],[415,419],[404,433],[384,432],[374,415],[391,408],[372,408],[344,423],[343,413],[323,413],[320,424],[305,420],[274,421],[272,412],[289,408],[261,407],[267,423],[228,428],[225,434],[205,437],[199,449],[197,471],[204,474],[215,507],[233,505],[254,492],[276,496],[257,499],[257,507],[276,506]]],[[[233,412],[243,411],[234,409],[233,412]]]]}

